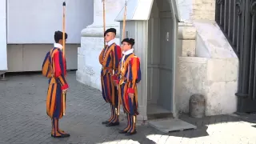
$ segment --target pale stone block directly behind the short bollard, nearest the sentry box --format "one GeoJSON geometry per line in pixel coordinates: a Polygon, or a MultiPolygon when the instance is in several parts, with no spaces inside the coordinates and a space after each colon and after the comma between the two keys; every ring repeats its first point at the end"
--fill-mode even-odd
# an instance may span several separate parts
{"type": "Polygon", "coordinates": [[[175,100],[180,112],[187,113],[192,94],[204,94],[206,58],[180,57],[178,62],[178,90],[175,100]]]}

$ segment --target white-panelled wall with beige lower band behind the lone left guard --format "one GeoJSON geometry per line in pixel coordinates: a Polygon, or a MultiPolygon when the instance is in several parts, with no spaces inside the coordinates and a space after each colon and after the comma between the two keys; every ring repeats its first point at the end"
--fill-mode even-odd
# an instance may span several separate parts
{"type": "MultiPolygon", "coordinates": [[[[61,0],[0,2],[0,74],[42,70],[42,60],[62,30],[61,0]]],[[[67,69],[78,69],[82,28],[93,22],[93,0],[66,1],[67,69]]]]}

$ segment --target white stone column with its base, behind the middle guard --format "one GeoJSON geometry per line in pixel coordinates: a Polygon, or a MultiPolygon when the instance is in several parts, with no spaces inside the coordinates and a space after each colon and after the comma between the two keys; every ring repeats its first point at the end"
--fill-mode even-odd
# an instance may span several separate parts
{"type": "MultiPolygon", "coordinates": [[[[115,41],[120,43],[119,22],[114,18],[122,10],[125,0],[106,0],[106,29],[113,27],[117,30],[115,41]]],[[[98,55],[103,48],[103,5],[102,0],[94,0],[94,23],[82,30],[81,47],[78,48],[77,80],[88,86],[101,90],[101,65],[98,55]]]]}

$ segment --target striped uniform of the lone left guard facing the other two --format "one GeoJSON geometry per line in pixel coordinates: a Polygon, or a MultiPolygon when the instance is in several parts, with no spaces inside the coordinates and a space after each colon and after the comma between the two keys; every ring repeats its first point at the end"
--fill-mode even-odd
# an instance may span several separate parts
{"type": "Polygon", "coordinates": [[[58,119],[63,116],[63,97],[62,90],[69,88],[66,82],[66,59],[62,54],[62,50],[54,47],[52,52],[52,70],[53,77],[49,79],[49,86],[46,98],[46,113],[52,118],[52,135],[60,136],[65,134],[58,128],[58,119]]]}

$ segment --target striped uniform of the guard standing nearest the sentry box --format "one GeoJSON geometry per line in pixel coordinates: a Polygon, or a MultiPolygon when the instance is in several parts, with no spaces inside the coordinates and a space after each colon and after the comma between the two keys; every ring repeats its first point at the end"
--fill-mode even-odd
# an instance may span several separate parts
{"type": "Polygon", "coordinates": [[[133,53],[123,55],[118,68],[118,96],[122,100],[122,107],[127,115],[128,124],[124,131],[135,131],[136,116],[138,115],[137,83],[141,81],[139,58],[133,53]],[[129,93],[134,94],[130,98],[129,93]]]}

